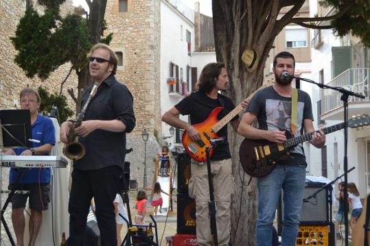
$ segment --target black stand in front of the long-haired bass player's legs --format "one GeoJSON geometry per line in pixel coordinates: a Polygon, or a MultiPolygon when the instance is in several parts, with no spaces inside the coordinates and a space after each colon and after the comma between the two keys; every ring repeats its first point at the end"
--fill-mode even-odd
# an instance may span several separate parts
{"type": "Polygon", "coordinates": [[[207,156],[207,173],[208,173],[208,185],[209,185],[209,219],[211,221],[211,232],[213,233],[213,245],[218,246],[217,237],[217,223],[216,223],[216,201],[213,189],[212,181],[212,171],[211,171],[211,159],[209,158],[209,152],[211,149],[215,148],[218,143],[224,143],[224,138],[212,138],[209,140],[211,146],[205,148],[205,153],[207,156]]]}

